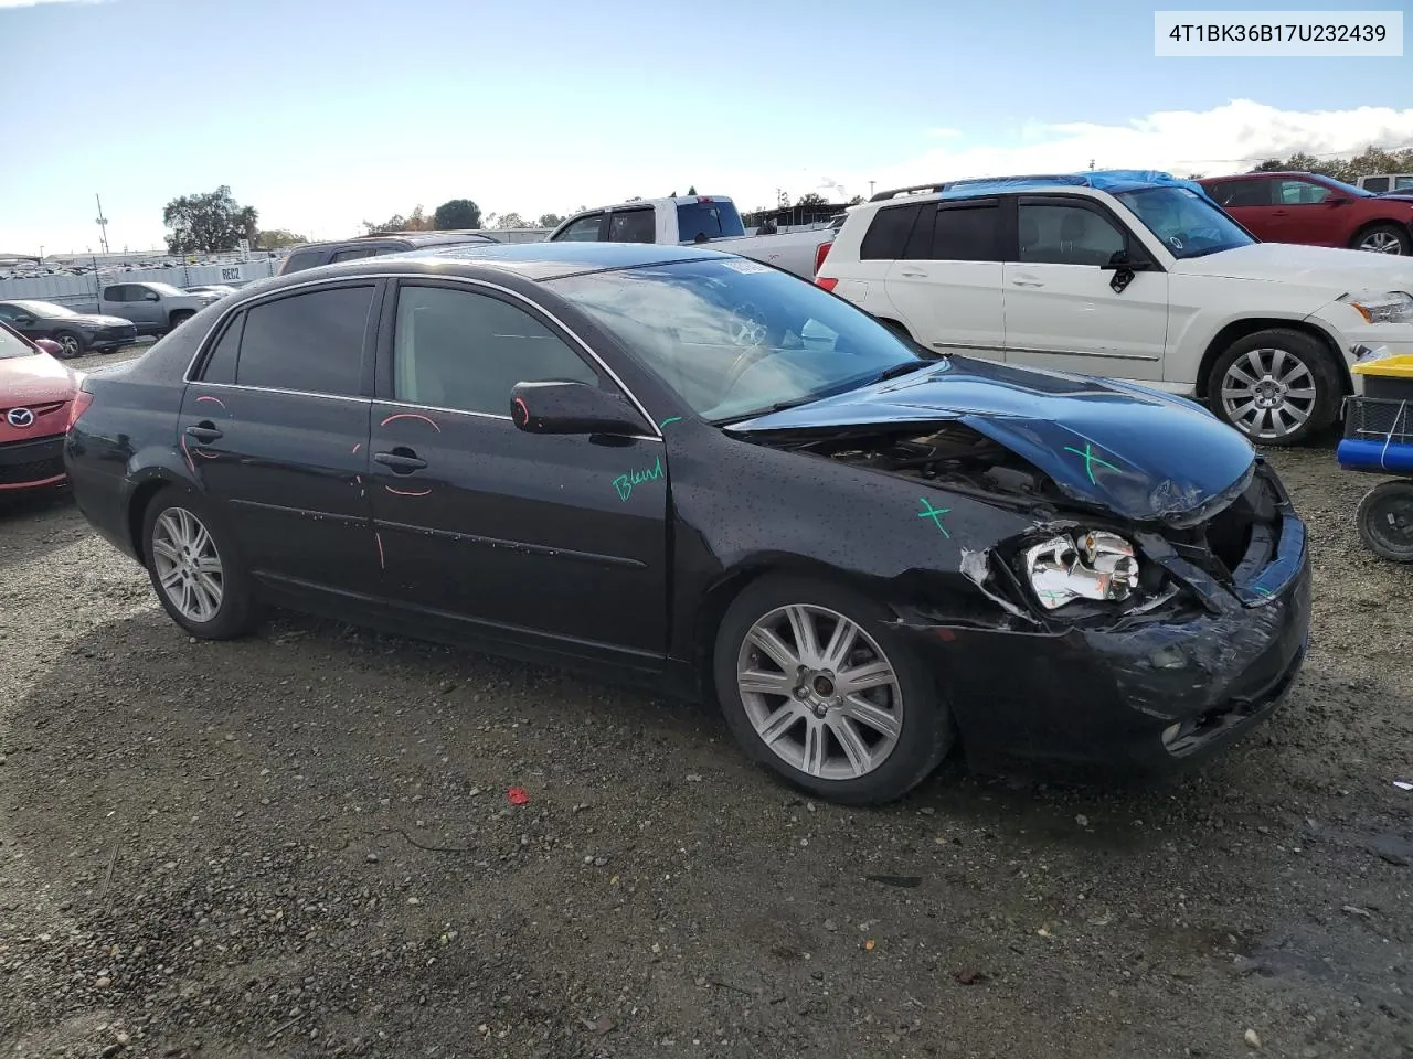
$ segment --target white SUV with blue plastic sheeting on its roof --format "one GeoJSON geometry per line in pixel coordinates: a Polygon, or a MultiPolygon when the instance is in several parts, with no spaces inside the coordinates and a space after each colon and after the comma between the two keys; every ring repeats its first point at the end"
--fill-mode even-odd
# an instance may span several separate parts
{"type": "Polygon", "coordinates": [[[924,346],[1197,397],[1252,441],[1340,415],[1413,353],[1413,261],[1262,243],[1190,181],[954,181],[849,210],[815,282],[924,346]]]}

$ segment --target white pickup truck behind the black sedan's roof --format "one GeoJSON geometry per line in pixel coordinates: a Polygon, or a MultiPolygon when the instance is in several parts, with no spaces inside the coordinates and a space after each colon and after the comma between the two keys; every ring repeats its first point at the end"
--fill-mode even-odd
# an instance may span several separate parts
{"type": "Polygon", "coordinates": [[[836,222],[805,232],[747,236],[736,203],[723,195],[632,199],[575,213],[548,241],[708,246],[814,280],[836,222]]]}

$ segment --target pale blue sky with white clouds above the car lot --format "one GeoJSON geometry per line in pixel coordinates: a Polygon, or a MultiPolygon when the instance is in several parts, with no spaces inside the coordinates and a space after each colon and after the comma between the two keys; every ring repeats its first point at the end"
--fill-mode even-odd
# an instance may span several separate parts
{"type": "Polygon", "coordinates": [[[341,239],[454,198],[533,220],[695,185],[745,212],[1091,160],[1218,175],[1413,145],[1413,51],[1154,58],[1153,11],[0,0],[0,253],[96,250],[95,193],[112,250],[161,247],[162,206],[223,184],[263,229],[341,239]]]}

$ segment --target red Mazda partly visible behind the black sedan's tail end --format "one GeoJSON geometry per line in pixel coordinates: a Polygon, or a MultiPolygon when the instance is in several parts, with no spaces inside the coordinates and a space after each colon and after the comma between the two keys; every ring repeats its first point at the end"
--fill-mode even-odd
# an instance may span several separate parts
{"type": "Polygon", "coordinates": [[[58,343],[0,323],[0,493],[64,481],[64,432],[79,380],[58,343]]]}

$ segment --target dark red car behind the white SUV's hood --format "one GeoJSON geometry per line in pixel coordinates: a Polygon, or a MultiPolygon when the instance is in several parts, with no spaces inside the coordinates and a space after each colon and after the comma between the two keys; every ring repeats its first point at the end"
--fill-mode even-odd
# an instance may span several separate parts
{"type": "Polygon", "coordinates": [[[1413,195],[1373,195],[1313,172],[1243,172],[1198,184],[1263,243],[1413,254],[1413,195]]]}

